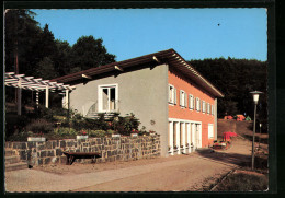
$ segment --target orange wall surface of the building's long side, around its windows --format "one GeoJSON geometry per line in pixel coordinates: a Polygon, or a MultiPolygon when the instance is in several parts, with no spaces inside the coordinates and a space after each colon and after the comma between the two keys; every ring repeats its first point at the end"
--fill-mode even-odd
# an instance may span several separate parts
{"type": "MultiPolygon", "coordinates": [[[[208,139],[208,124],[215,125],[214,116],[212,114],[207,114],[207,112],[202,113],[202,101],[214,105],[215,98],[172,68],[170,68],[168,72],[168,79],[169,84],[176,89],[176,105],[169,104],[169,118],[202,121],[202,147],[204,148],[213,144],[214,139],[208,139]],[[186,108],[182,108],[180,106],[180,90],[183,90],[187,94],[186,108]],[[189,108],[189,94],[194,96],[195,106],[196,97],[200,98],[201,112],[197,112],[196,108],[193,110],[189,108]]],[[[215,127],[216,126],[214,126],[214,132],[215,127]]]]}

